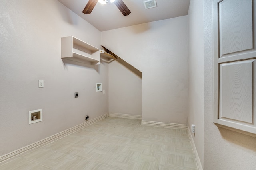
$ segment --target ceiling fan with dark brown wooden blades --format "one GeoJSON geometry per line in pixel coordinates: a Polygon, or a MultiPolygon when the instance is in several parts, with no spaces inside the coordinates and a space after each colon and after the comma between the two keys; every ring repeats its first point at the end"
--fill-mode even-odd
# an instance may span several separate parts
{"type": "MultiPolygon", "coordinates": [[[[103,0],[107,1],[107,0],[103,0]]],[[[89,0],[86,6],[84,7],[83,13],[84,14],[91,14],[94,6],[96,6],[98,0],[89,0]]],[[[128,16],[131,12],[128,9],[128,7],[124,4],[122,0],[110,0],[110,2],[114,2],[116,4],[117,8],[122,12],[124,16],[128,16]]]]}

